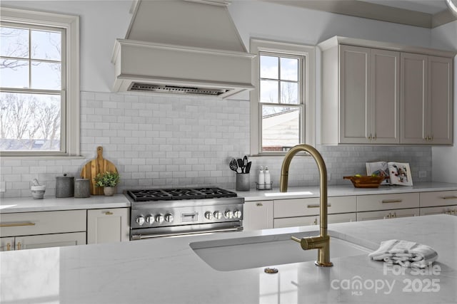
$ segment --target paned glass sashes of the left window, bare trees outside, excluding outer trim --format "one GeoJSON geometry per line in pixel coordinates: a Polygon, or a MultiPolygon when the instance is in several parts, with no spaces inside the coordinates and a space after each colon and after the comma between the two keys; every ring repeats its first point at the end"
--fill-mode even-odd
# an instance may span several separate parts
{"type": "Polygon", "coordinates": [[[61,30],[2,23],[0,39],[0,150],[61,150],[61,30]]]}

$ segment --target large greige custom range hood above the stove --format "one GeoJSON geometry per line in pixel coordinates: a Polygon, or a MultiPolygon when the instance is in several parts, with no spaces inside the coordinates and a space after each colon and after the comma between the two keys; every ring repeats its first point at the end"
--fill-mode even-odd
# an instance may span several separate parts
{"type": "Polygon", "coordinates": [[[223,0],[134,1],[116,39],[114,91],[226,98],[253,89],[251,61],[223,0]]]}

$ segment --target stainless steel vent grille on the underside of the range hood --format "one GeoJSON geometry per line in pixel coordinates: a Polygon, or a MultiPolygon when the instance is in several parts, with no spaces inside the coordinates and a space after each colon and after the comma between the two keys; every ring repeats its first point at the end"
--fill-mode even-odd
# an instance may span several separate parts
{"type": "Polygon", "coordinates": [[[213,96],[219,96],[221,94],[229,92],[229,89],[181,87],[181,86],[177,86],[177,85],[155,85],[155,84],[151,84],[151,83],[132,83],[129,90],[158,92],[158,93],[213,95],[213,96]]]}

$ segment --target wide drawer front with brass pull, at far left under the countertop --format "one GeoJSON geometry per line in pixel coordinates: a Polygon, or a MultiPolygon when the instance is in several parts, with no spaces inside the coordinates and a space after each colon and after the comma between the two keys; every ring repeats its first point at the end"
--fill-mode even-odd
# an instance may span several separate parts
{"type": "Polygon", "coordinates": [[[0,236],[86,231],[86,210],[1,214],[0,236]]]}

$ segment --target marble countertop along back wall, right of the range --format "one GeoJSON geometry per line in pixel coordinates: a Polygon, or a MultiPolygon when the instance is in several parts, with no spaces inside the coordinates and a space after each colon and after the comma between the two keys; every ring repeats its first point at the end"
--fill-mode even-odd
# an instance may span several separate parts
{"type": "MultiPolygon", "coordinates": [[[[457,184],[442,182],[418,182],[414,186],[388,186],[381,185],[378,188],[356,188],[348,181],[347,185],[328,186],[328,196],[349,196],[366,194],[395,194],[408,192],[431,192],[457,190],[457,184]]],[[[272,190],[238,191],[238,196],[243,196],[245,201],[265,201],[270,199],[299,199],[306,197],[318,197],[319,187],[288,187],[287,192],[279,192],[279,187],[272,190]]]]}

